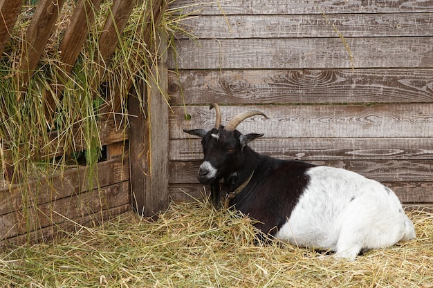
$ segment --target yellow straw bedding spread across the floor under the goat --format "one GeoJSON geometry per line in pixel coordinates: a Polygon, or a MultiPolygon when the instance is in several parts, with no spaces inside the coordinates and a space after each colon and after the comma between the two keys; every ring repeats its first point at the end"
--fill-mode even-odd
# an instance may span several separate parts
{"type": "Polygon", "coordinates": [[[288,244],[254,244],[252,222],[202,202],[156,222],[133,213],[53,244],[0,254],[3,287],[433,287],[433,215],[412,211],[418,238],[354,262],[288,244]]]}

